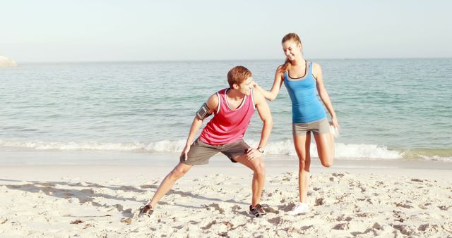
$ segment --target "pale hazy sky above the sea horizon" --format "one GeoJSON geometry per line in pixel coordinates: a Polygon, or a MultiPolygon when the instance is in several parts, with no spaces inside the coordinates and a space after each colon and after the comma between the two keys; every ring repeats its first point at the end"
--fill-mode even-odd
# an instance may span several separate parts
{"type": "Polygon", "coordinates": [[[452,1],[0,0],[0,55],[18,63],[452,57],[452,1]]]}

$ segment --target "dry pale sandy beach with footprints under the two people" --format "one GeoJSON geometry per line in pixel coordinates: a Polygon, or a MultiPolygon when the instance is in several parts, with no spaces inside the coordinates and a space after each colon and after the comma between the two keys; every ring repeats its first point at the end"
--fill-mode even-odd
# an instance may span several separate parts
{"type": "Polygon", "coordinates": [[[268,166],[263,218],[247,216],[251,171],[236,165],[193,168],[151,218],[133,213],[170,166],[3,165],[0,237],[452,237],[451,165],[355,163],[312,168],[297,216],[296,166],[268,166]]]}

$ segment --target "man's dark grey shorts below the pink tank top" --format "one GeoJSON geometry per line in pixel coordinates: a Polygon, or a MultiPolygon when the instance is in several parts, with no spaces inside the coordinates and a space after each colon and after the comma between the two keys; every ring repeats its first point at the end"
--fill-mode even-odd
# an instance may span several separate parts
{"type": "Polygon", "coordinates": [[[239,139],[230,144],[212,145],[204,143],[198,138],[195,142],[193,142],[193,144],[191,144],[186,161],[184,161],[183,156],[181,156],[179,160],[181,163],[185,163],[187,165],[205,165],[209,163],[210,157],[215,156],[218,152],[221,152],[222,154],[225,154],[225,156],[227,156],[227,158],[229,158],[233,163],[237,163],[237,161],[234,161],[234,157],[246,154],[246,150],[249,149],[249,147],[250,146],[246,144],[243,139],[239,139]]]}

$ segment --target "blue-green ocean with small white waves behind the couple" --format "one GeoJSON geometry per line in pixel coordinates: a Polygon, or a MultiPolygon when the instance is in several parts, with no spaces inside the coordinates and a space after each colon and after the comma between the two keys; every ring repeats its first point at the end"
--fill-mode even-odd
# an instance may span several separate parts
{"type": "MultiPolygon", "coordinates": [[[[341,127],[335,158],[452,162],[451,58],[314,61],[321,64],[341,127]]],[[[174,156],[182,151],[199,106],[227,87],[230,68],[244,65],[261,87],[270,89],[281,63],[23,63],[0,68],[0,163],[25,152],[54,157],[69,151],[127,152],[149,160],[174,156]]],[[[284,86],[269,105],[274,127],[266,154],[296,158],[284,86]]],[[[261,127],[256,113],[244,137],[251,146],[258,144],[261,127]]],[[[311,153],[317,156],[315,144],[311,153]]],[[[33,163],[33,156],[23,160],[33,163]]]]}

